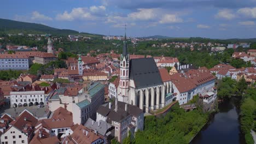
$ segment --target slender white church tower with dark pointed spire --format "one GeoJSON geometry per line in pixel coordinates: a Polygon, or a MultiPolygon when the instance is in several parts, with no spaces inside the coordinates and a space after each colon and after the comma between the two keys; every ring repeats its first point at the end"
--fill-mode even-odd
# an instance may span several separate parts
{"type": "Polygon", "coordinates": [[[129,95],[129,54],[127,52],[127,40],[126,40],[126,27],[124,37],[123,53],[120,57],[120,93],[118,94],[118,100],[128,103],[129,95]]]}

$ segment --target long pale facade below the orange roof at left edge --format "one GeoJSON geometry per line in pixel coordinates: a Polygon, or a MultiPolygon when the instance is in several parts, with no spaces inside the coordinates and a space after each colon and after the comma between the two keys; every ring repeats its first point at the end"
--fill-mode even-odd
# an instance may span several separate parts
{"type": "Polygon", "coordinates": [[[28,70],[28,58],[0,58],[0,70],[28,70]]]}

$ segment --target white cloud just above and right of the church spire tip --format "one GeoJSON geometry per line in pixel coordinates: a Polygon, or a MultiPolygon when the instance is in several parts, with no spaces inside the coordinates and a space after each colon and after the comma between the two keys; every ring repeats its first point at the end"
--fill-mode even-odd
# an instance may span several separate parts
{"type": "Polygon", "coordinates": [[[156,17],[154,9],[138,9],[138,11],[128,14],[133,20],[153,20],[156,17]]]}

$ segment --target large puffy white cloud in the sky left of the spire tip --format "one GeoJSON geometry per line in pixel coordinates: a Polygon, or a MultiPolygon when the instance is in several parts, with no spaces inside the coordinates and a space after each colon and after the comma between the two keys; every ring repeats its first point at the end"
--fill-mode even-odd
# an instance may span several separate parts
{"type": "Polygon", "coordinates": [[[95,20],[97,19],[97,14],[102,14],[106,10],[106,7],[92,6],[90,8],[73,8],[70,13],[64,11],[63,14],[57,14],[56,20],[63,21],[73,21],[75,19],[80,20],[95,20]]]}

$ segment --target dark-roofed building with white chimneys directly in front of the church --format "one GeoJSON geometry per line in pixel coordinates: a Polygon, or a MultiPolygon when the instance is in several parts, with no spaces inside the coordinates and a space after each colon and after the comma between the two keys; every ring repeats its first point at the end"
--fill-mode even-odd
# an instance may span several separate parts
{"type": "Polygon", "coordinates": [[[96,121],[104,121],[113,125],[115,137],[122,142],[129,135],[129,131],[135,134],[136,131],[143,130],[144,114],[137,106],[115,99],[113,104],[104,104],[98,108],[96,121]]]}

